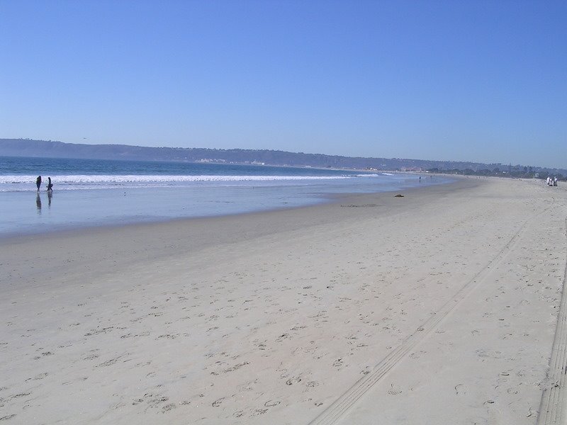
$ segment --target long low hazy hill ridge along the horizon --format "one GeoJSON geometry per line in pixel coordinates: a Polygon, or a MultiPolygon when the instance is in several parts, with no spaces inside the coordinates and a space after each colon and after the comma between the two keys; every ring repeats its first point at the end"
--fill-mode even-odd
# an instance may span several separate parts
{"type": "Polygon", "coordinates": [[[29,139],[0,139],[0,156],[82,159],[124,159],[145,161],[218,162],[228,164],[266,164],[313,166],[322,168],[377,169],[397,171],[430,170],[459,174],[508,174],[533,176],[549,173],[567,176],[566,169],[537,166],[483,164],[478,162],[427,161],[423,159],[342,157],[304,154],[267,149],[204,149],[181,147],[142,147],[130,145],[82,145],[29,139]]]}

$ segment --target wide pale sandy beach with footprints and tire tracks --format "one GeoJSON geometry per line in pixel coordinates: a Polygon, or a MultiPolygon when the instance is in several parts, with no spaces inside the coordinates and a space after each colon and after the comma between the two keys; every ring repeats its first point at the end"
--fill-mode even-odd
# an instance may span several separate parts
{"type": "Polygon", "coordinates": [[[559,424],[566,188],[0,239],[0,421],[559,424]]]}

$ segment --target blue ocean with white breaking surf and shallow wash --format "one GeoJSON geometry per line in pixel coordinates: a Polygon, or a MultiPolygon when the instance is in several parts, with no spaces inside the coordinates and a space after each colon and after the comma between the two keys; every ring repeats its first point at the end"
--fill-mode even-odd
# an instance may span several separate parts
{"type": "Polygon", "coordinates": [[[245,164],[0,157],[0,237],[210,217],[400,191],[450,179],[245,164]],[[35,179],[42,176],[38,193],[35,179]],[[47,178],[53,183],[47,193],[47,178]]]}

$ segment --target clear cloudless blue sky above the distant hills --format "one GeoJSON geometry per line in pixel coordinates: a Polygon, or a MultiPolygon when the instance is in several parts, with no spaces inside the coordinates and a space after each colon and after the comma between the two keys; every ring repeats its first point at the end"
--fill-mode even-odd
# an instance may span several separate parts
{"type": "Polygon", "coordinates": [[[567,168],[567,1],[0,0],[0,137],[567,168]]]}

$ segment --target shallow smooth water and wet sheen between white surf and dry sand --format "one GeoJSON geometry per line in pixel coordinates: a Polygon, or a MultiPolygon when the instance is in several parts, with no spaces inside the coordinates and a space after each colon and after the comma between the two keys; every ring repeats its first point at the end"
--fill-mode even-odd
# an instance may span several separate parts
{"type": "MultiPolygon", "coordinates": [[[[419,184],[445,183],[437,179],[419,184]]],[[[43,234],[64,229],[80,229],[128,223],[151,223],[184,217],[220,217],[246,212],[288,210],[304,205],[327,203],[335,193],[374,193],[395,187],[418,186],[417,178],[379,177],[338,179],[308,184],[262,183],[232,187],[215,186],[98,188],[84,191],[0,193],[4,215],[0,220],[0,238],[18,234],[43,234]],[[391,180],[393,179],[393,180],[391,180]],[[108,208],[111,205],[111,208],[108,208]]]]}

